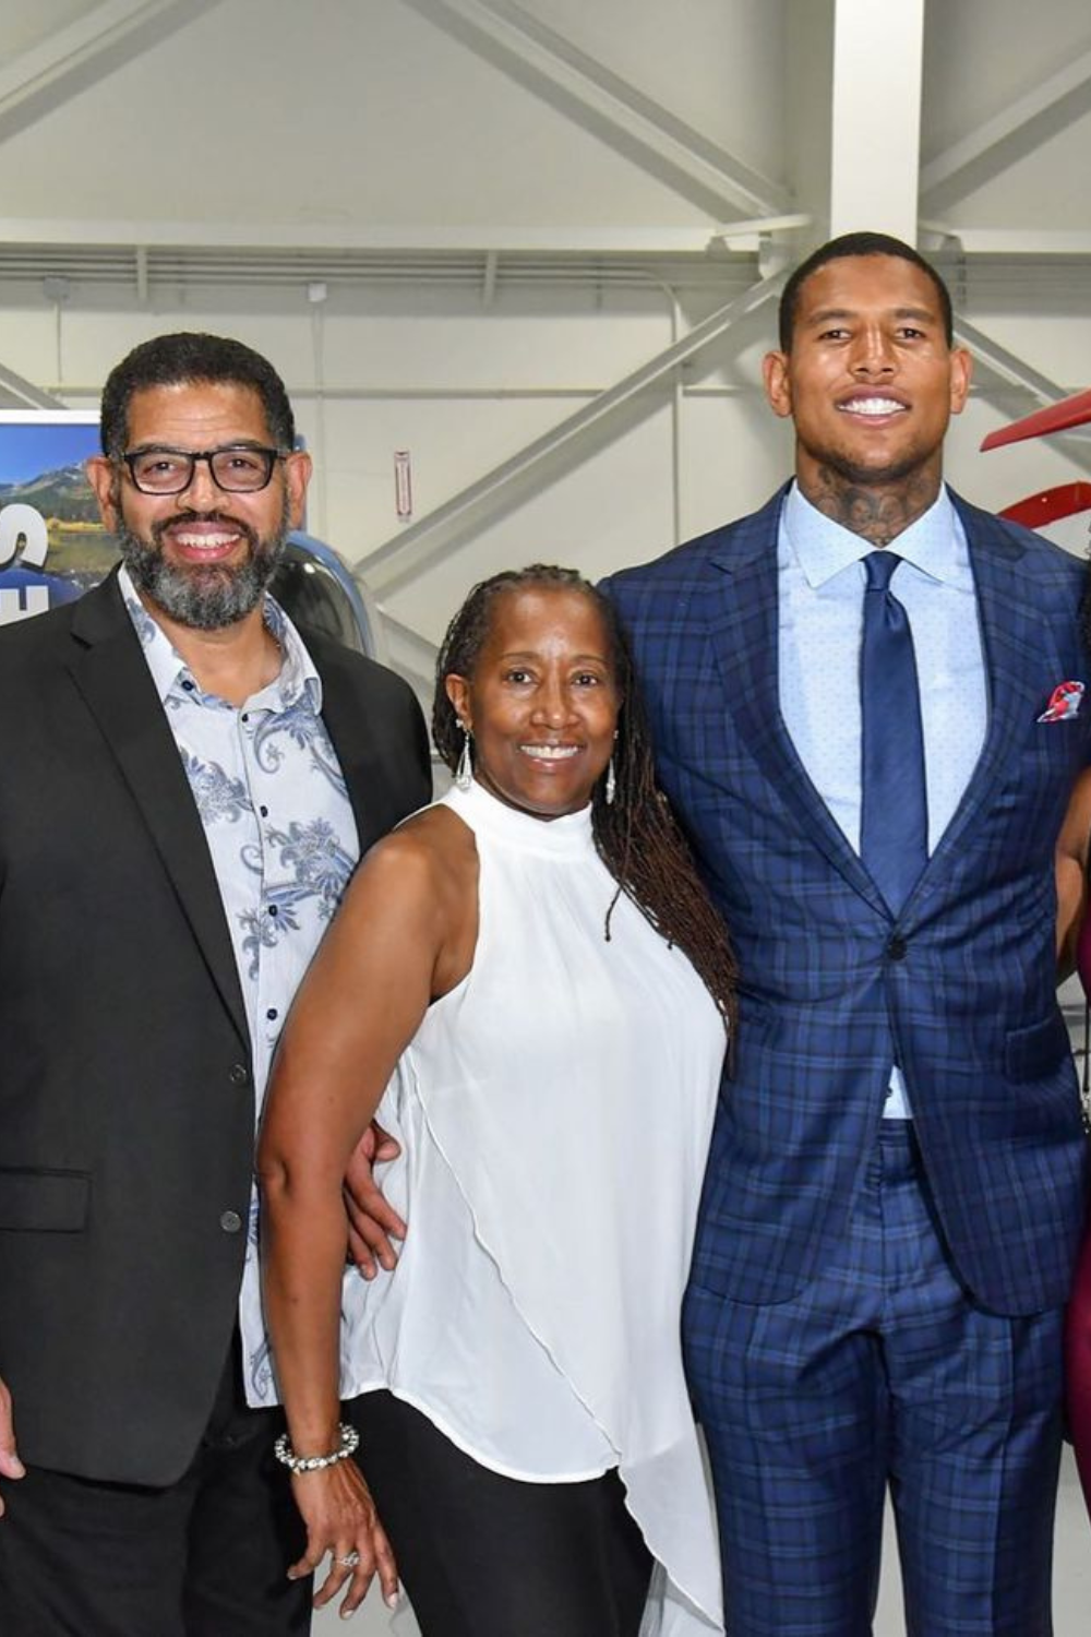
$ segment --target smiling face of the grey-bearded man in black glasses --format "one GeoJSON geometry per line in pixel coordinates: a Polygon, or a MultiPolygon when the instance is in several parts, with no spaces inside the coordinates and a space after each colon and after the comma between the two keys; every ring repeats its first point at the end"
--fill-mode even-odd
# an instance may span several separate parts
{"type": "MultiPolygon", "coordinates": [[[[132,395],[126,452],[272,447],[265,411],[250,386],[180,381],[132,395]]],[[[250,614],[280,560],[285,537],[303,512],[311,462],[278,460],[267,488],[226,493],[198,462],[180,494],[142,494],[124,465],[88,462],[106,529],[142,599],[182,625],[216,630],[250,614]]]]}

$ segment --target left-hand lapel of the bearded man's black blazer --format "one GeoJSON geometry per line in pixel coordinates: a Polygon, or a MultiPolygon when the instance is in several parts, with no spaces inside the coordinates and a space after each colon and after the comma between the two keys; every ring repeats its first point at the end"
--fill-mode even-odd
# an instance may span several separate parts
{"type": "Polygon", "coordinates": [[[193,928],[222,1002],[247,1044],[239,969],[204,828],[116,573],[77,606],[72,681],[110,745],[193,928]]]}

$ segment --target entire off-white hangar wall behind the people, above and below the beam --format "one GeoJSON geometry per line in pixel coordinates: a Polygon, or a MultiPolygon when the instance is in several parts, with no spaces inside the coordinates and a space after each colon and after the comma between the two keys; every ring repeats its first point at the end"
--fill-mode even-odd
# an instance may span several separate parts
{"type": "MultiPolygon", "coordinates": [[[[883,3],[908,15],[909,0],[883,3]]],[[[8,0],[0,18],[0,372],[82,408],[155,331],[249,340],[285,375],[316,455],[311,527],[355,563],[407,534],[394,449],[412,453],[415,535],[429,511],[821,237],[837,0],[157,0],[160,29],[95,36],[103,10],[8,0]],[[811,223],[775,226],[769,211],[811,223]],[[685,265],[671,260],[679,236],[685,265]],[[623,257],[592,254],[620,244],[633,246],[625,288],[623,257]],[[370,249],[394,262],[347,260],[370,249]],[[97,273],[97,259],[113,270],[97,273]],[[309,301],[314,283],[326,301],[309,301]]],[[[111,16],[142,10],[119,0],[111,16]]],[[[1057,390],[1083,388],[1086,0],[929,0],[923,57],[921,165],[996,138],[926,188],[924,242],[944,246],[959,304],[991,342],[1057,390]],[[1003,254],[963,265],[960,242],[1003,254]]],[[[875,54],[877,120],[896,69],[875,54]]],[[[867,170],[857,146],[842,164],[867,170]]],[[[656,381],[466,512],[422,571],[397,552],[375,565],[379,601],[435,642],[497,566],[550,558],[600,575],[671,545],[676,512],[687,535],[759,504],[790,467],[788,429],[757,385],[772,327],[770,308],[744,319],[680,386],[656,381]]],[[[988,429],[1034,406],[998,395],[994,375],[981,386],[950,439],[959,488],[1001,506],[1083,475],[1058,440],[980,457],[988,429]]],[[[1091,460],[1091,442],[1080,452],[1091,460]]],[[[412,645],[393,655],[409,663],[412,645]]]]}

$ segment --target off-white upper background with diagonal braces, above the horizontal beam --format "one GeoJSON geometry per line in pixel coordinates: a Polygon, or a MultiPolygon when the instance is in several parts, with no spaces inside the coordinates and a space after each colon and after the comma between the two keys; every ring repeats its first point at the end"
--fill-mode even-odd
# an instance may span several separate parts
{"type": "MultiPolygon", "coordinates": [[[[836,18],[834,0],[5,0],[0,241],[662,249],[821,218],[823,133],[797,93],[828,106],[836,18]]],[[[880,43],[877,134],[901,72],[880,43]]],[[[1091,247],[1089,139],[1086,0],[929,0],[906,156],[926,223],[972,249],[1091,247]]]]}

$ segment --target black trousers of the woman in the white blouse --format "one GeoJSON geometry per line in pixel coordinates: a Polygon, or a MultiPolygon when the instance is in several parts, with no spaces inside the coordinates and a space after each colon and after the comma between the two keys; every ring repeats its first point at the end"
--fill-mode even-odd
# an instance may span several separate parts
{"type": "Polygon", "coordinates": [[[424,1637],[636,1637],[651,1555],[617,1472],[522,1483],[393,1393],[348,1414],[424,1637]]]}

